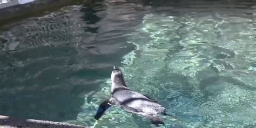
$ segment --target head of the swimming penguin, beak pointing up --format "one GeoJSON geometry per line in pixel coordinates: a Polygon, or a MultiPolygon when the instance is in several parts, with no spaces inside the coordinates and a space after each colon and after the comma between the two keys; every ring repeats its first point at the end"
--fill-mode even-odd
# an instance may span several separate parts
{"type": "Polygon", "coordinates": [[[111,81],[114,84],[119,84],[119,85],[125,85],[124,83],[124,76],[121,70],[119,70],[118,68],[114,67],[114,70],[112,70],[111,73],[111,81]]]}

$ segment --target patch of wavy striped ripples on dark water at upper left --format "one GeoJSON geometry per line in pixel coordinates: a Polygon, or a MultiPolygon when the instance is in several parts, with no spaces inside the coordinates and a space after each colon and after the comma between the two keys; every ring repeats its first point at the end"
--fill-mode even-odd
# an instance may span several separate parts
{"type": "Polygon", "coordinates": [[[77,37],[81,33],[79,31],[86,26],[83,22],[79,22],[80,8],[80,5],[69,6],[44,17],[25,19],[21,25],[3,33],[5,38],[13,40],[6,42],[2,50],[22,50],[73,42],[73,38],[77,37]]]}

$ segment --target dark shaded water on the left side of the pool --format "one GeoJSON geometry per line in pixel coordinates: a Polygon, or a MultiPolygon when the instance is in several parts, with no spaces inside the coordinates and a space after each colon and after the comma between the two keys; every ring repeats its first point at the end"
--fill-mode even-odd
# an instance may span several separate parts
{"type": "Polygon", "coordinates": [[[113,64],[120,65],[134,49],[125,43],[125,34],[135,22],[100,23],[105,15],[103,2],[67,6],[2,31],[0,113],[58,122],[76,119],[84,103],[79,95],[100,90],[113,64]]]}

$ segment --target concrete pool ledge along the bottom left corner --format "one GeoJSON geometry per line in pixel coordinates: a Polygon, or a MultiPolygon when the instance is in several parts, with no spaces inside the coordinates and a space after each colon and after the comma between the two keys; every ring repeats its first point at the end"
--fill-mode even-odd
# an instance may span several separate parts
{"type": "MultiPolygon", "coordinates": [[[[0,127],[57,127],[57,128],[84,128],[86,126],[67,123],[50,122],[46,120],[18,119],[8,116],[0,116],[0,127]]],[[[87,127],[86,127],[87,128],[87,127]]]]}

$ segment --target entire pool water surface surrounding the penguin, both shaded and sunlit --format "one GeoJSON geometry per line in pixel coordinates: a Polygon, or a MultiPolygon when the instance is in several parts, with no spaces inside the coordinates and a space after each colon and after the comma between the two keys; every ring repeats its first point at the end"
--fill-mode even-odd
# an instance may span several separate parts
{"type": "MultiPolygon", "coordinates": [[[[96,2],[5,25],[0,114],[93,126],[118,65],[177,114],[165,127],[255,126],[255,12],[249,1],[96,2]]],[[[152,125],[111,107],[95,127],[152,125]]]]}

